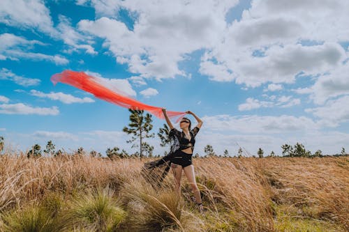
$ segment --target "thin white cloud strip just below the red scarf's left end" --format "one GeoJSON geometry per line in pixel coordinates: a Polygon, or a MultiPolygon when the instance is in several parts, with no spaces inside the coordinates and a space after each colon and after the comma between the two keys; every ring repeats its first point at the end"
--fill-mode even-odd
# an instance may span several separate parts
{"type": "Polygon", "coordinates": [[[60,102],[66,103],[66,104],[72,104],[72,103],[90,103],[90,102],[94,102],[93,99],[91,98],[77,98],[74,97],[73,95],[70,94],[66,94],[66,93],[43,93],[40,91],[36,91],[34,89],[32,89],[30,91],[31,95],[34,95],[36,97],[39,98],[49,98],[51,100],[59,100],[60,102]]]}

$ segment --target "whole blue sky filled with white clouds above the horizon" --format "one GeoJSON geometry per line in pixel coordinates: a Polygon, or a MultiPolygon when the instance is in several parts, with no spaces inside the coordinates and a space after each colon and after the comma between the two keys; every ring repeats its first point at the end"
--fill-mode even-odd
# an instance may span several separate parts
{"type": "MultiPolygon", "coordinates": [[[[206,144],[267,155],[297,142],[340,153],[349,149],[348,9],[347,0],[1,0],[0,135],[20,150],[52,140],[132,152],[127,109],[50,82],[70,69],[148,105],[193,111],[204,121],[200,155],[206,144]]],[[[153,119],[157,133],[165,121],[153,119]]],[[[167,149],[148,142],[155,154],[167,149]]]]}

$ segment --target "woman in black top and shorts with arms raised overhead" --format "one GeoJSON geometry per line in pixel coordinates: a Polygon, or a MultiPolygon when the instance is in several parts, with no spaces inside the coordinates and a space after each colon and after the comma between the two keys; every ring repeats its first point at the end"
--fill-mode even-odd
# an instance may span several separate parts
{"type": "Polygon", "coordinates": [[[170,167],[174,175],[178,194],[181,192],[181,173],[182,170],[184,170],[186,178],[188,178],[188,181],[191,184],[191,188],[195,196],[195,203],[198,205],[200,212],[202,212],[203,206],[200,190],[196,184],[194,166],[191,160],[195,145],[195,136],[198,134],[200,127],[202,126],[202,121],[191,111],[186,111],[186,114],[193,115],[196,121],[198,121],[198,125],[191,130],[191,121],[188,118],[182,118],[179,123],[182,131],[179,132],[179,130],[173,127],[168,115],[166,114],[166,109],[163,109],[163,115],[165,116],[165,120],[171,129],[170,135],[174,135],[177,141],[174,143],[174,146],[171,146],[170,153],[172,153],[172,155],[170,157],[170,167]]]}

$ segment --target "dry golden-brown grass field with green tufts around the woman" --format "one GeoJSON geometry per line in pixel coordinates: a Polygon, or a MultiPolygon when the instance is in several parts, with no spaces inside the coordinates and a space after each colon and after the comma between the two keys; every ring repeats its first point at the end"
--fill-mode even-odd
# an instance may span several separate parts
{"type": "Polygon", "coordinates": [[[0,231],[349,231],[349,157],[205,157],[205,212],[136,158],[0,156],[0,231]]]}

